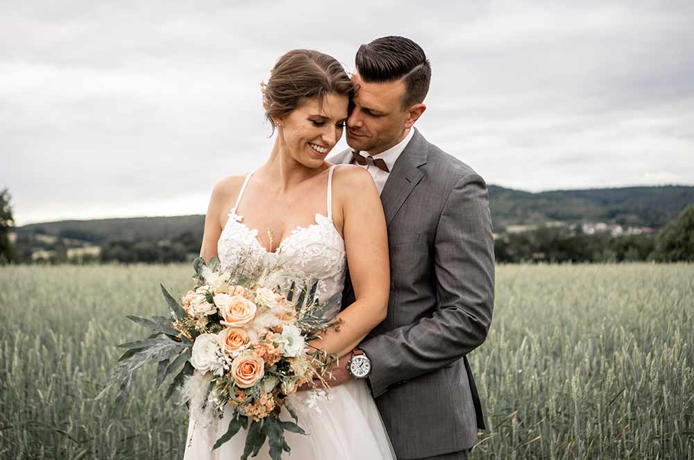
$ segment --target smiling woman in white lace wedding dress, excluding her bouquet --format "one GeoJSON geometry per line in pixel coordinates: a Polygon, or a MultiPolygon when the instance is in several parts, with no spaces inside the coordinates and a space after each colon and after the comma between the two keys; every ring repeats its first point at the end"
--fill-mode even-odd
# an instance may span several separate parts
{"type": "MultiPolygon", "coordinates": [[[[337,315],[339,332],[310,343],[339,357],[385,318],[390,284],[386,223],[371,175],[325,162],[354,91],[331,56],[294,50],[278,60],[263,91],[266,117],[277,130],[270,156],[255,171],[214,186],[201,248],[222,268],[242,253],[286,266],[317,280],[321,301],[341,292],[348,264],[356,301],[337,315]]],[[[308,433],[286,433],[291,458],[395,458],[365,380],[335,386],[329,400],[316,396],[312,390],[288,398],[308,433]]],[[[224,418],[207,427],[191,420],[185,459],[239,459],[243,431],[212,450],[231,414],[228,406],[224,418]]],[[[258,458],[269,459],[267,445],[258,458]]]]}

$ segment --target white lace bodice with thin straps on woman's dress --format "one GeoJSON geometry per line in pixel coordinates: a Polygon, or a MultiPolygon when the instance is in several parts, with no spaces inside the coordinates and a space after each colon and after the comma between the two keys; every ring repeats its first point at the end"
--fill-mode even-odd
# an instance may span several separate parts
{"type": "MultiPolygon", "coordinates": [[[[265,262],[282,268],[285,276],[278,282],[282,289],[289,289],[292,281],[318,282],[316,293],[321,302],[342,291],[346,271],[344,239],[332,222],[332,173],[328,172],[328,213],[316,213],[315,223],[292,230],[274,253],[269,252],[257,239],[258,230],[248,228],[237,208],[253,172],[248,173],[239,191],[236,204],[229,213],[226,226],[217,241],[217,253],[222,269],[238,263],[240,257],[248,262],[265,262]]],[[[336,314],[337,312],[331,312],[336,314]]]]}

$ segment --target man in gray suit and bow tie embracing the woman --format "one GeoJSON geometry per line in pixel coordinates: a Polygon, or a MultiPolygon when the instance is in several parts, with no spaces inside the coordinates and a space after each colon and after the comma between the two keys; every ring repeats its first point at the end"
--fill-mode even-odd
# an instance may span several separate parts
{"type": "MultiPolygon", "coordinates": [[[[333,384],[363,378],[366,357],[398,459],[458,460],[484,428],[466,355],[491,323],[494,254],[484,180],[413,127],[430,78],[424,51],[405,37],[357,51],[351,149],[330,161],[373,176],[388,225],[390,300],[385,320],[353,351],[355,372],[334,372],[333,384]]],[[[342,305],[354,300],[348,278],[342,305]]]]}

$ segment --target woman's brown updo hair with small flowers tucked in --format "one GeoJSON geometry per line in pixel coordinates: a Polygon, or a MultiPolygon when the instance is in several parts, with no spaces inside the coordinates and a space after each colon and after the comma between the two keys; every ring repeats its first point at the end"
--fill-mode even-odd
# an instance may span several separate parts
{"type": "Polygon", "coordinates": [[[322,105],[327,94],[351,98],[355,92],[355,85],[335,58],[311,49],[287,51],[261,87],[265,117],[273,133],[274,119],[287,116],[305,101],[317,97],[322,105]]]}

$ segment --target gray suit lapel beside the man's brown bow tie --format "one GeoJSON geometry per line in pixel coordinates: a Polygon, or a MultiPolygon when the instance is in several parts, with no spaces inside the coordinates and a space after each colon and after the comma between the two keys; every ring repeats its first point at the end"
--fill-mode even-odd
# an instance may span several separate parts
{"type": "Polygon", "coordinates": [[[381,191],[381,203],[387,225],[390,225],[409,194],[424,177],[424,173],[418,167],[426,164],[428,150],[428,142],[418,130],[415,130],[412,140],[393,164],[393,171],[388,175],[388,180],[381,191]]]}

